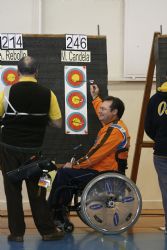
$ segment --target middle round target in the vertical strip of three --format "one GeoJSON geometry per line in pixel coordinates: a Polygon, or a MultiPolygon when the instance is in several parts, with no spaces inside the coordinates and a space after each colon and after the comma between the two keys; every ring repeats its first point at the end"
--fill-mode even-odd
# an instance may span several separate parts
{"type": "Polygon", "coordinates": [[[72,109],[81,109],[86,102],[85,95],[80,91],[71,91],[66,97],[67,104],[72,109]]]}

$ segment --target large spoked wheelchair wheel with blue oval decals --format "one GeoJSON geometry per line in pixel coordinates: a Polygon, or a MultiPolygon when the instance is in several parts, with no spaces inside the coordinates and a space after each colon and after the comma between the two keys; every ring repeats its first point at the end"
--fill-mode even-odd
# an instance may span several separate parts
{"type": "Polygon", "coordinates": [[[126,231],[138,219],[142,198],[126,176],[103,173],[91,180],[81,196],[81,218],[103,234],[126,231]]]}

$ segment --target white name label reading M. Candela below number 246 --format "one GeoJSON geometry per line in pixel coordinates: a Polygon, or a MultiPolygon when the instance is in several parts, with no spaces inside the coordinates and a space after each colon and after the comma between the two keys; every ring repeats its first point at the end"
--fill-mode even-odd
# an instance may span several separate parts
{"type": "Polygon", "coordinates": [[[91,62],[91,52],[62,50],[61,62],[91,62]]]}

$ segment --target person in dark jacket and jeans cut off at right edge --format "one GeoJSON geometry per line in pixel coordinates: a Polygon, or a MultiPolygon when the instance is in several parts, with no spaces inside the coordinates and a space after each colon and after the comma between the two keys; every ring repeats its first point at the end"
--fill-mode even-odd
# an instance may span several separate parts
{"type": "Polygon", "coordinates": [[[149,100],[145,132],[155,142],[153,160],[162,194],[167,234],[167,82],[149,100]]]}

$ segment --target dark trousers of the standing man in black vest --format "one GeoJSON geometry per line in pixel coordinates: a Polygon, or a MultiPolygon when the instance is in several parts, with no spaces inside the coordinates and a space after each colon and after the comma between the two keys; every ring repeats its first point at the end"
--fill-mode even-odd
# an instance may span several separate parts
{"type": "MultiPolygon", "coordinates": [[[[0,162],[4,179],[7,201],[8,224],[12,235],[21,236],[25,233],[24,211],[22,204],[22,181],[12,183],[6,172],[18,168],[32,153],[19,152],[0,147],[0,162]]],[[[39,176],[26,180],[26,187],[35,225],[41,235],[54,232],[54,223],[46,201],[46,191],[38,188],[39,176]]]]}

